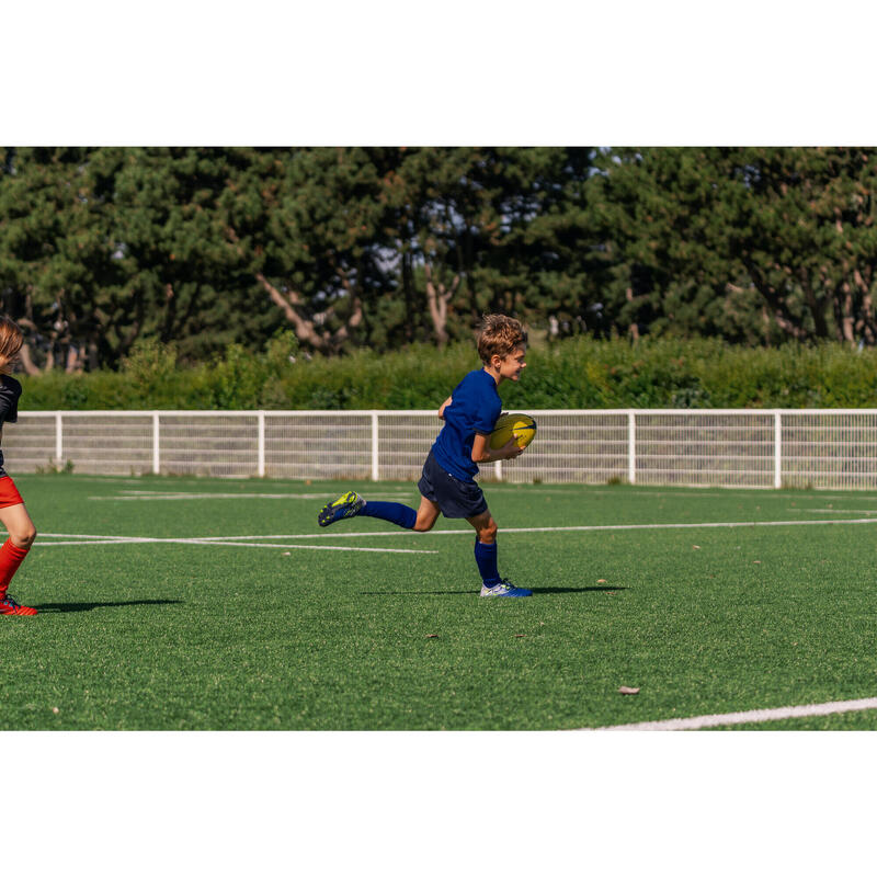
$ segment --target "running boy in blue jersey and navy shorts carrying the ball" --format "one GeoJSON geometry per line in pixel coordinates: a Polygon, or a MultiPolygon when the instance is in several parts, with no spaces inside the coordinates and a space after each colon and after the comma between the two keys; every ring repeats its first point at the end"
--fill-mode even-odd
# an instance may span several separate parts
{"type": "Polygon", "coordinates": [[[348,492],[323,506],[317,515],[327,527],[353,515],[389,521],[406,529],[432,529],[438,514],[465,517],[474,527],[475,562],[481,576],[481,596],[531,596],[526,588],[515,588],[500,577],[497,566],[497,522],[485,494],[476,483],[479,463],[511,459],[522,449],[510,440],[491,449],[488,436],[502,413],[497,387],[503,380],[519,380],[526,367],[527,334],[521,323],[501,314],[485,317],[478,334],[478,354],[483,367],[469,372],[438,409],[445,425],[438,433],[418,482],[420,508],[414,511],[399,502],[366,502],[348,492]]]}

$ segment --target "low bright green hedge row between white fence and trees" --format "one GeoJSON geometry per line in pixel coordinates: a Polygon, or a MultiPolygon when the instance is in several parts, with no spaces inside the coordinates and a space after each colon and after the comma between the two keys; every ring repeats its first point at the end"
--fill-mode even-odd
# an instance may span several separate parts
{"type": "MultiPolygon", "coordinates": [[[[275,340],[263,353],[231,345],[221,358],[178,365],[143,345],[119,372],[20,376],[22,410],[434,408],[471,368],[472,345],[412,346],[306,360],[275,340]],[[273,346],[272,346],[273,344],[273,346]],[[291,361],[295,358],[295,361],[291,361]]],[[[840,344],[736,348],[713,340],[594,341],[535,346],[504,403],[538,408],[877,407],[877,351],[840,344]]]]}

